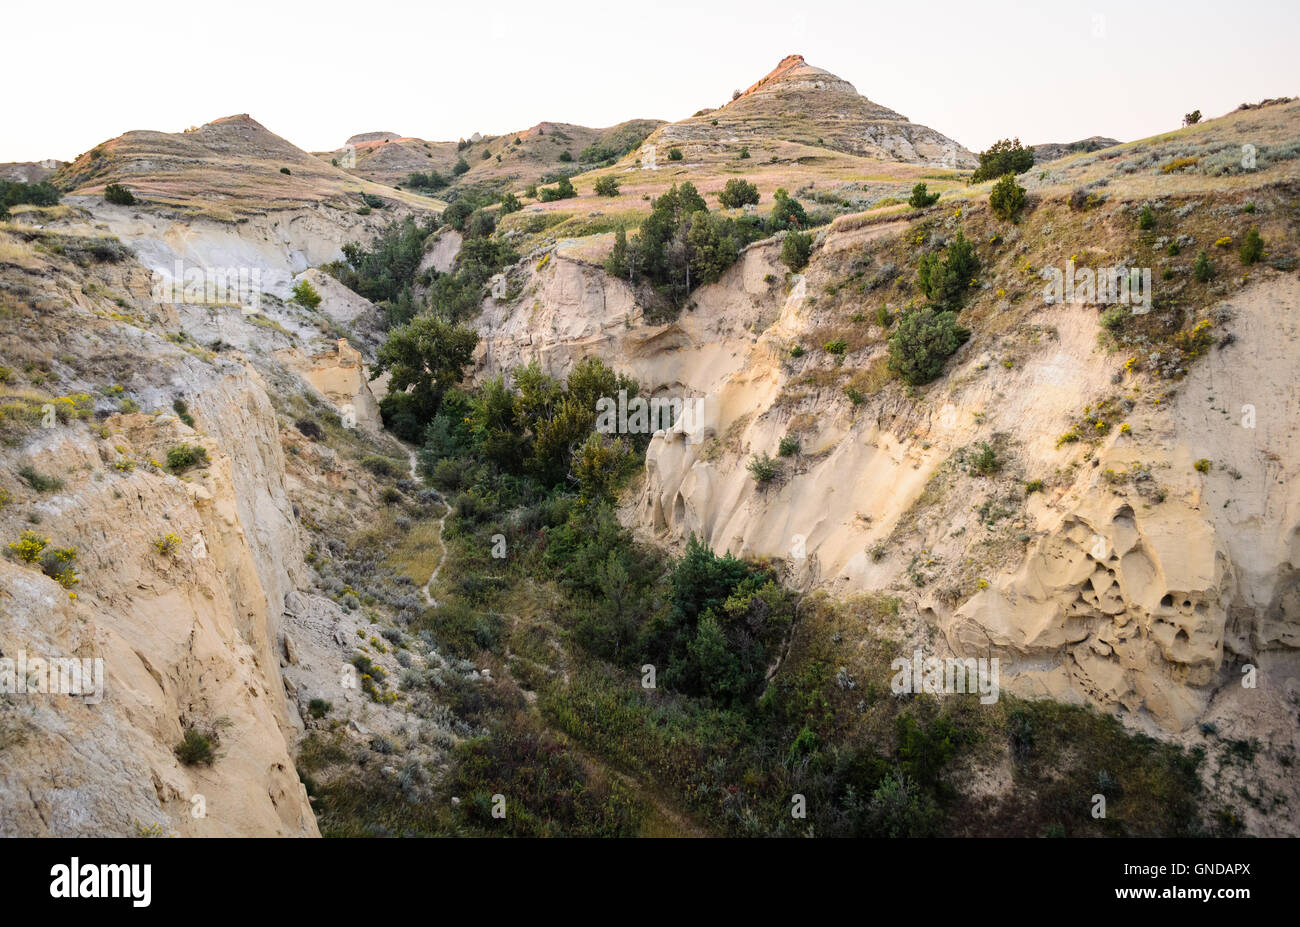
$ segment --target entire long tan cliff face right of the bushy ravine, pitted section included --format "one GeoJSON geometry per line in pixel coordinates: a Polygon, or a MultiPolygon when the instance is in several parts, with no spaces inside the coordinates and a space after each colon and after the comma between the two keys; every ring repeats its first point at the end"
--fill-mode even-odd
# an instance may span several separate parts
{"type": "MultiPolygon", "coordinates": [[[[896,233],[832,229],[826,248],[896,233]]],[[[789,347],[809,343],[820,317],[801,278],[788,290],[762,282],[779,272],[776,251],[751,247],[696,293],[694,311],[647,326],[630,291],[562,247],[517,303],[486,309],[481,373],[533,359],[563,373],[597,355],[647,393],[702,397],[702,439],[651,441],[632,523],[660,542],[694,533],[775,559],[801,585],[914,599],[953,651],[1000,657],[1011,690],[1091,701],[1176,732],[1214,714],[1242,664],[1266,671],[1271,686],[1300,683],[1294,280],[1219,307],[1236,341],[1199,361],[1171,407],[1139,404],[1127,433],[1114,428],[1084,456],[1056,438],[1089,398],[1115,389],[1095,309],[1039,309],[1050,338],[997,377],[980,373],[992,356],[958,355],[924,402],[889,399],[863,415],[840,390],[814,390],[792,403],[785,394],[815,368],[793,373],[789,347]],[[1244,407],[1257,428],[1242,426],[1244,407]],[[755,486],[746,462],[792,432],[800,455],[755,486]],[[992,542],[963,495],[965,469],[945,475],[962,449],[996,436],[1024,478],[1066,476],[1024,503],[1023,529],[992,542]],[[1208,475],[1193,467],[1201,458],[1216,462],[1208,475]],[[1149,477],[1112,478],[1143,468],[1149,477]],[[913,547],[922,554],[909,562],[913,547]]]]}

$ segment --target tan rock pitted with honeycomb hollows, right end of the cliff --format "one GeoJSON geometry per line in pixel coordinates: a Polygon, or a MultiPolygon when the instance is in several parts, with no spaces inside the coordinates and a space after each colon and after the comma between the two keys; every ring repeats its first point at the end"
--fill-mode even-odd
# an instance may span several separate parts
{"type": "Polygon", "coordinates": [[[1141,438],[1105,449],[1019,569],[950,616],[953,646],[1058,659],[1028,672],[1027,690],[1065,683],[1171,729],[1240,686],[1243,667],[1260,686],[1300,683],[1297,309],[1295,280],[1223,307],[1234,341],[1192,369],[1166,416],[1134,423],[1141,438]],[[1106,488],[1106,471],[1134,464],[1158,475],[1164,502],[1106,488]]]}

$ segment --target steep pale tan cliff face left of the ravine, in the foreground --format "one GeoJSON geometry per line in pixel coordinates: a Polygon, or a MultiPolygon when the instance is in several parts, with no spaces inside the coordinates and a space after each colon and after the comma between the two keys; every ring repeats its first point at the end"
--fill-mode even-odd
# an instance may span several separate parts
{"type": "Polygon", "coordinates": [[[0,832],[317,835],[289,751],[300,722],[277,671],[302,542],[276,419],[237,365],[204,382],[191,411],[202,434],[136,413],[109,419],[110,438],[64,428],[23,449],[77,473],[38,508],[39,532],[79,551],[82,581],[72,599],[38,569],[0,562],[0,649],[101,659],[104,694],[4,702],[0,832]],[[182,441],[211,458],[190,481],[110,467],[124,451],[165,459],[182,441]],[[178,545],[159,553],[168,534],[178,545]],[[216,735],[214,764],[177,759],[190,725],[216,735]]]}

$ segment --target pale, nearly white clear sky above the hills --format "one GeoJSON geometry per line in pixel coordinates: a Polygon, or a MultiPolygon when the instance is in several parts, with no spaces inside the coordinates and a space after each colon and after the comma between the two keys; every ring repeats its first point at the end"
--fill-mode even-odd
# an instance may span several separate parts
{"type": "Polygon", "coordinates": [[[64,0],[3,21],[0,161],[234,113],[307,151],[671,121],[792,53],[972,151],[1300,95],[1297,0],[64,0]]]}

